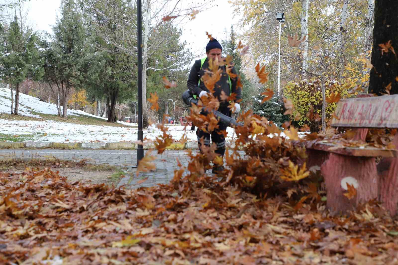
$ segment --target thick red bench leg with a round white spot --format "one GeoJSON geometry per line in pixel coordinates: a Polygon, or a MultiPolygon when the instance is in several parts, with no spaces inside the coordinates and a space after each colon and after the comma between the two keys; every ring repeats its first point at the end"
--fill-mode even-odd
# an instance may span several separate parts
{"type": "Polygon", "coordinates": [[[322,164],[321,170],[327,189],[327,207],[332,215],[346,213],[353,210],[358,203],[378,198],[375,158],[331,153],[329,159],[322,164]],[[340,184],[344,177],[354,177],[359,183],[357,195],[353,199],[343,195],[347,192],[340,184]]]}

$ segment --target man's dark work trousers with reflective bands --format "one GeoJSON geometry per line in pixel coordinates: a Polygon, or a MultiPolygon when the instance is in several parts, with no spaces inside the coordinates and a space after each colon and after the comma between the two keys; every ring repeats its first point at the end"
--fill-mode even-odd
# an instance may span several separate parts
{"type": "MultiPolygon", "coordinates": [[[[219,110],[219,111],[230,117],[229,109],[222,109],[222,110],[219,110]]],[[[226,125],[224,125],[222,123],[219,123],[219,128],[215,129],[211,134],[205,133],[204,131],[202,131],[198,128],[196,130],[196,136],[198,139],[199,150],[201,150],[201,146],[202,146],[200,139],[203,137],[204,144],[207,146],[210,146],[210,138],[211,138],[211,142],[215,143],[217,146],[217,149],[215,151],[216,154],[219,154],[220,156],[224,156],[224,154],[225,154],[225,137],[224,137],[224,134],[219,134],[219,132],[225,131],[225,130],[226,130],[226,125]]]]}

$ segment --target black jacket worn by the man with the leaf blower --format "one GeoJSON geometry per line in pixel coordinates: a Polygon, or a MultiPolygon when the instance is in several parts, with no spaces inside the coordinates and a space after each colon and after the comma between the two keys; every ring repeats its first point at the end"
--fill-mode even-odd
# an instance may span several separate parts
{"type": "MultiPolygon", "coordinates": [[[[187,87],[189,89],[189,91],[191,91],[194,95],[199,96],[200,92],[202,92],[203,90],[206,92],[209,92],[209,90],[206,88],[205,84],[201,81],[200,85],[198,86],[198,82],[200,80],[200,78],[203,76],[203,74],[205,73],[203,69],[208,69],[209,68],[209,58],[206,58],[205,62],[203,62],[203,66],[202,68],[200,67],[201,65],[201,60],[196,60],[195,63],[193,64],[192,68],[191,68],[191,72],[189,72],[189,77],[188,77],[188,81],[187,81],[187,87]]],[[[214,91],[215,97],[218,97],[220,100],[220,94],[221,91],[224,91],[224,93],[226,95],[230,95],[230,87],[228,84],[228,74],[225,72],[225,67],[226,66],[222,66],[222,76],[220,78],[220,80],[215,84],[214,86],[214,91]]],[[[235,68],[232,68],[232,73],[236,74],[236,70],[235,68]]],[[[233,79],[231,78],[231,82],[232,82],[232,93],[236,94],[236,100],[241,99],[241,90],[240,88],[236,87],[236,82],[237,82],[237,78],[233,79]]],[[[227,102],[222,103],[220,101],[220,107],[225,107],[226,105],[229,105],[227,102]]]]}

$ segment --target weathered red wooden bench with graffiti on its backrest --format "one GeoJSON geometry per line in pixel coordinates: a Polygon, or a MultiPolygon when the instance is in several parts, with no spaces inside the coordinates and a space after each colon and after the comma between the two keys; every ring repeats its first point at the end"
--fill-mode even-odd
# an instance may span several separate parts
{"type": "MultiPolygon", "coordinates": [[[[373,97],[360,94],[357,98],[338,103],[332,119],[333,127],[354,128],[352,140],[365,142],[369,128],[398,128],[398,95],[373,97]]],[[[398,134],[393,142],[398,147],[398,134]]],[[[353,210],[359,203],[378,199],[390,212],[398,208],[398,152],[396,149],[369,145],[347,147],[333,141],[308,142],[308,167],[321,168],[327,189],[327,207],[331,214],[353,210]],[[376,157],[382,157],[376,164],[376,157]],[[348,199],[347,183],[357,194],[348,199]]]]}

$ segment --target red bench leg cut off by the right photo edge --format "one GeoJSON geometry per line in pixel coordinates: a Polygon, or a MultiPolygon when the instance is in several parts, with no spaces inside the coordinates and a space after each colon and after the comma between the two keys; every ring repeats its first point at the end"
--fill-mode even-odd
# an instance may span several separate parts
{"type": "MultiPolygon", "coordinates": [[[[394,138],[398,146],[398,136],[394,138]]],[[[398,210],[398,158],[383,158],[377,165],[380,177],[380,196],[384,208],[391,216],[397,216],[398,210]]]]}

